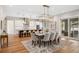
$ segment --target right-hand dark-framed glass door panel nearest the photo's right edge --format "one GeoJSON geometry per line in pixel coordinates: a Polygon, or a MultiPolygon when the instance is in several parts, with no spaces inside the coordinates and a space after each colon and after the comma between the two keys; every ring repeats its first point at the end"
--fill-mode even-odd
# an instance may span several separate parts
{"type": "Polygon", "coordinates": [[[78,18],[70,19],[70,37],[78,38],[78,18]]]}

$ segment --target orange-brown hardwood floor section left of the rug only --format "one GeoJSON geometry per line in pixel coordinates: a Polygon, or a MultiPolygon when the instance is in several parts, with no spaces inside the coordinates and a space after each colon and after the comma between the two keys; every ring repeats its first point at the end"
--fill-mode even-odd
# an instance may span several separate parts
{"type": "Polygon", "coordinates": [[[28,52],[27,49],[24,48],[21,41],[29,40],[30,37],[19,38],[18,36],[9,36],[9,46],[6,44],[3,48],[0,48],[0,53],[24,53],[28,52]]]}

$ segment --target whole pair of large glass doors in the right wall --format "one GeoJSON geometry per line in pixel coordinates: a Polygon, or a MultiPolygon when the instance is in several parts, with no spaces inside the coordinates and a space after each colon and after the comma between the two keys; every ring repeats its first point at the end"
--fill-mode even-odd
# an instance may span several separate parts
{"type": "Polygon", "coordinates": [[[79,19],[68,18],[61,21],[62,34],[73,38],[79,38],[79,19]]]}

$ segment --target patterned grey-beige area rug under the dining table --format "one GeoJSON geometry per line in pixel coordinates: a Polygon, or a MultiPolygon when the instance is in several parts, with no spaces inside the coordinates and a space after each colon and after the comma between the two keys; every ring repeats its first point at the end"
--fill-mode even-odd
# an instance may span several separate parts
{"type": "Polygon", "coordinates": [[[21,42],[23,46],[29,51],[29,53],[53,53],[55,50],[54,46],[47,46],[47,47],[39,47],[39,46],[33,46],[32,40],[26,40],[21,42]]]}

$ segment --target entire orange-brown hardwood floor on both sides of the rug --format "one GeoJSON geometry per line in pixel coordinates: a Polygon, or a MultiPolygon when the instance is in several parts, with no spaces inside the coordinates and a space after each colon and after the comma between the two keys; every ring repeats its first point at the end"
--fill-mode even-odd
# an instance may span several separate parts
{"type": "MultiPolygon", "coordinates": [[[[79,41],[69,40],[70,38],[65,38],[68,40],[62,40],[60,42],[63,47],[56,48],[55,53],[73,53],[79,52],[79,41]]],[[[18,36],[9,36],[9,46],[6,44],[3,48],[0,48],[0,53],[28,53],[28,50],[23,46],[21,41],[30,40],[30,37],[19,38],[18,36]]]]}

